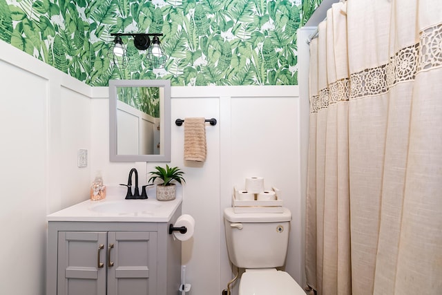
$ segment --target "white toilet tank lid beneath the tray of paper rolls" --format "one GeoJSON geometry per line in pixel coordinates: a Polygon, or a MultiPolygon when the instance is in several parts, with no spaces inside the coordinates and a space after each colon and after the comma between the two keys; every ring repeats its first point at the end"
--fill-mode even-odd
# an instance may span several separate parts
{"type": "Polygon", "coordinates": [[[224,218],[230,222],[284,222],[291,220],[291,212],[282,208],[282,213],[235,213],[232,207],[224,209],[224,218]]]}

